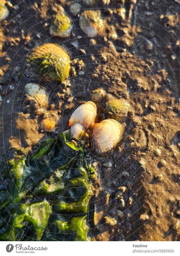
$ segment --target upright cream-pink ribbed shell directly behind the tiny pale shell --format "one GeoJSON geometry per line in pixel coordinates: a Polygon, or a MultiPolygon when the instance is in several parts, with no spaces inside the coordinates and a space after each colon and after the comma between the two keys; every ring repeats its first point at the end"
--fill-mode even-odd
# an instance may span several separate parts
{"type": "Polygon", "coordinates": [[[69,120],[69,126],[73,125],[73,123],[79,122],[84,126],[85,129],[88,129],[94,125],[96,115],[97,108],[94,102],[87,101],[85,103],[82,103],[72,113],[69,120]]]}

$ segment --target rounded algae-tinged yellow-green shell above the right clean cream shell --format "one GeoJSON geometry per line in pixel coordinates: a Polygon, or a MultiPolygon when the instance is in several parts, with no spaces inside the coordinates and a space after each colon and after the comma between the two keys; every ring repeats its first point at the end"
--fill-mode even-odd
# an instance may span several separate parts
{"type": "Polygon", "coordinates": [[[130,109],[129,103],[122,99],[110,98],[106,102],[106,112],[111,118],[118,121],[124,121],[130,109]]]}

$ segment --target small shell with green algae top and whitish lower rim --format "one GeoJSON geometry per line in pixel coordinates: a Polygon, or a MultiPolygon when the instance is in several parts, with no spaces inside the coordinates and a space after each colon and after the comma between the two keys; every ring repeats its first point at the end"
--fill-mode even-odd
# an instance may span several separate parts
{"type": "Polygon", "coordinates": [[[58,14],[51,22],[49,33],[51,36],[68,37],[71,34],[73,28],[72,21],[64,14],[58,14]]]}

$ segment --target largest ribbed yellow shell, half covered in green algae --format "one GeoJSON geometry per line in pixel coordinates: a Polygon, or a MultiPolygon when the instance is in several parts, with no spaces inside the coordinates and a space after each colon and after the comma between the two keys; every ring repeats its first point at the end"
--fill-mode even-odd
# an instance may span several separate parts
{"type": "Polygon", "coordinates": [[[25,64],[25,75],[38,81],[59,83],[69,76],[70,57],[65,48],[54,43],[37,46],[25,64]]]}

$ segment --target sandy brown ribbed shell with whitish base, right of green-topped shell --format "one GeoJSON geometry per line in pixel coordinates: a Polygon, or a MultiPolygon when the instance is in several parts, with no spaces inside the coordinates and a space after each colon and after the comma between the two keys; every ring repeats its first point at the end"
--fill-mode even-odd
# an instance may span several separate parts
{"type": "Polygon", "coordinates": [[[85,10],[79,17],[79,26],[87,36],[96,36],[102,33],[103,20],[100,10],[85,10]]]}

